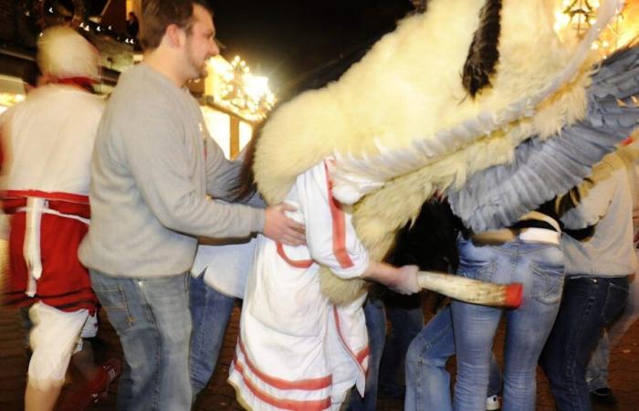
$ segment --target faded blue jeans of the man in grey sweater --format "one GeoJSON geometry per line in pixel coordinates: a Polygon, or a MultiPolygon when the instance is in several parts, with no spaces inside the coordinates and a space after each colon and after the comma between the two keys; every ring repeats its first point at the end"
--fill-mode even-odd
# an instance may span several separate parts
{"type": "Polygon", "coordinates": [[[191,409],[187,274],[132,279],[89,272],[126,359],[117,409],[191,409]]]}

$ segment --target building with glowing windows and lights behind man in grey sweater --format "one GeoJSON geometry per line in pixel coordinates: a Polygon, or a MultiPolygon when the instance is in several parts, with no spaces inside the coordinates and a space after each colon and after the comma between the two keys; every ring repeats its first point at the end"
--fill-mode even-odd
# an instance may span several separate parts
{"type": "MultiPolygon", "coordinates": [[[[120,73],[141,60],[137,40],[127,33],[131,12],[141,16],[138,0],[0,0],[0,112],[25,99],[26,83],[35,84],[37,37],[48,26],[72,26],[98,48],[102,82],[96,91],[108,95],[120,73]]],[[[235,158],[274,97],[267,79],[253,76],[240,58],[212,58],[208,71],[207,79],[188,87],[200,101],[209,132],[225,155],[235,158]]]]}

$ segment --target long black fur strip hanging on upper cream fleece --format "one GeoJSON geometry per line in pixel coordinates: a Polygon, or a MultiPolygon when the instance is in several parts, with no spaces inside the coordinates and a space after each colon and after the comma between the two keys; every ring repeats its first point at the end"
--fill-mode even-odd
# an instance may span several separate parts
{"type": "Polygon", "coordinates": [[[501,0],[487,0],[479,12],[479,26],[468,49],[462,84],[472,98],[490,85],[499,60],[501,0]]]}

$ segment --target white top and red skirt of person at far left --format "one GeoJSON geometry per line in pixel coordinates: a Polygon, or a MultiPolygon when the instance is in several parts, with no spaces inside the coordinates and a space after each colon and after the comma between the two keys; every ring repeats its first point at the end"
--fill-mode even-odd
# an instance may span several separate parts
{"type": "Polygon", "coordinates": [[[5,113],[9,304],[41,300],[61,311],[95,311],[89,274],[77,253],[88,228],[89,164],[103,105],[79,86],[50,84],[5,113]]]}

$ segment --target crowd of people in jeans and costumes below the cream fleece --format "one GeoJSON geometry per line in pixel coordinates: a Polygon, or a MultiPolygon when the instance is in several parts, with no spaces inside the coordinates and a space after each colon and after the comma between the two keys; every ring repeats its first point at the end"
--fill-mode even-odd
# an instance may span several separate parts
{"type": "MultiPolygon", "coordinates": [[[[606,329],[636,284],[633,144],[512,227],[472,232],[439,195],[393,255],[376,261],[332,195],[332,157],[299,174],[284,202],[266,205],[251,174],[259,130],[237,161],[209,135],[184,87],[219,53],[207,2],[148,0],[134,25],[144,60],[106,102],[92,92],[96,49],[52,27],[38,40],[37,88],[0,117],[4,302],[25,313],[27,411],[56,407],[71,363],[87,380],[85,406],[120,377],[119,410],[190,409],[214,373],[236,299],[228,382],[248,409],[375,409],[384,301],[387,354],[393,364],[405,356],[407,410],[534,410],[538,363],[558,409],[591,409],[591,392],[610,400],[606,329]],[[434,240],[442,227],[445,240],[434,240]],[[393,297],[333,304],[320,267],[393,297]],[[418,269],[520,282],[523,299],[508,310],[452,300],[424,326],[418,269]],[[121,364],[93,360],[86,338],[98,332],[99,310],[118,333],[121,364]],[[503,371],[493,354],[502,317],[503,371]]],[[[403,382],[395,385],[403,395],[403,382]]]]}

